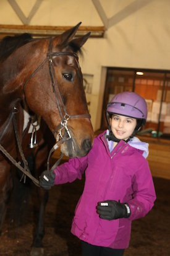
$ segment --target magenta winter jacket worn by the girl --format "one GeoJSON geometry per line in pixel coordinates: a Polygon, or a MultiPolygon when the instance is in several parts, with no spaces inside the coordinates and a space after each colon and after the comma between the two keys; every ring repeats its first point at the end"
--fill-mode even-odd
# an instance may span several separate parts
{"type": "Polygon", "coordinates": [[[143,151],[120,141],[109,152],[105,133],[95,138],[87,156],[70,159],[54,170],[55,184],[81,179],[85,186],[75,209],[71,232],[93,245],[125,249],[129,246],[131,222],[153,207],[155,188],[143,151]],[[130,218],[104,220],[96,213],[98,201],[128,203],[130,218]]]}

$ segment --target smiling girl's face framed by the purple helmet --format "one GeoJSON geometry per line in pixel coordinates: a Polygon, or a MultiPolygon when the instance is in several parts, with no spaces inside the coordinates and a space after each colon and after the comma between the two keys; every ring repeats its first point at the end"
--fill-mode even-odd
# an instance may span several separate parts
{"type": "Polygon", "coordinates": [[[112,118],[110,118],[110,125],[111,130],[117,139],[127,140],[134,132],[137,120],[132,117],[113,114],[112,118]]]}

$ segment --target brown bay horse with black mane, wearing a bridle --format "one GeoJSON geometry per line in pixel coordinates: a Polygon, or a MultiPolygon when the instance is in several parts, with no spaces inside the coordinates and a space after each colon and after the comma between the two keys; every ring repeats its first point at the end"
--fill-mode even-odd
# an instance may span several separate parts
{"type": "Polygon", "coordinates": [[[48,191],[40,188],[38,177],[49,168],[50,152],[60,146],[62,154],[82,157],[93,145],[78,58],[90,32],[76,37],[80,24],[56,37],[32,38],[24,33],[5,37],[0,43],[0,231],[15,165],[33,180],[40,196],[32,256],[43,255],[48,191]],[[35,177],[27,161],[31,155],[35,177]]]}

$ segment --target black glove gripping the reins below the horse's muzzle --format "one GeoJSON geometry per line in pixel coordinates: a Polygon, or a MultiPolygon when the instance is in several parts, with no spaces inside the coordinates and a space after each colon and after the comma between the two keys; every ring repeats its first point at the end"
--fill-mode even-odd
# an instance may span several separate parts
{"type": "Polygon", "coordinates": [[[50,189],[54,186],[55,177],[54,172],[45,170],[40,175],[40,187],[50,189]]]}

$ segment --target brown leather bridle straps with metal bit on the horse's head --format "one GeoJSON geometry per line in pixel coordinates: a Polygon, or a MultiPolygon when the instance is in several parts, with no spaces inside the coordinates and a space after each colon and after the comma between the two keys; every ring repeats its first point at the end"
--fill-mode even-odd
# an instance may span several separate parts
{"type": "MultiPolygon", "coordinates": [[[[70,139],[71,138],[69,129],[67,128],[67,121],[70,118],[89,118],[90,119],[90,114],[69,115],[67,113],[67,110],[66,110],[64,102],[62,100],[61,92],[59,90],[59,86],[58,86],[58,83],[57,83],[57,77],[56,77],[56,72],[55,72],[55,69],[54,69],[53,57],[54,56],[64,56],[64,55],[73,56],[75,58],[75,60],[76,60],[76,63],[78,65],[78,67],[80,67],[79,66],[79,61],[78,61],[79,58],[78,58],[77,54],[69,52],[69,51],[53,52],[52,48],[53,48],[53,38],[50,38],[49,46],[48,46],[48,53],[46,55],[46,58],[40,64],[40,66],[38,66],[38,68],[36,68],[35,71],[33,71],[33,73],[28,77],[27,81],[25,81],[25,84],[23,86],[23,92],[25,94],[25,88],[27,86],[28,81],[30,81],[30,79],[32,79],[32,77],[40,70],[40,68],[44,66],[46,61],[48,61],[49,75],[50,75],[50,78],[51,78],[51,84],[52,84],[52,87],[53,87],[54,95],[56,97],[56,104],[57,104],[57,108],[59,110],[59,115],[61,117],[61,122],[59,123],[59,125],[57,125],[56,129],[53,131],[53,134],[56,133],[56,131],[59,131],[59,133],[56,136],[56,141],[57,141],[57,143],[60,141],[59,144],[61,144],[66,139],[70,139]],[[63,115],[62,112],[64,112],[64,115],[63,115]],[[66,131],[67,136],[63,136],[62,135],[62,130],[63,129],[66,131]]],[[[64,135],[65,135],[65,133],[64,133],[64,135]]],[[[56,148],[59,147],[58,144],[55,144],[54,148],[55,148],[55,146],[56,146],[56,148]]]]}

